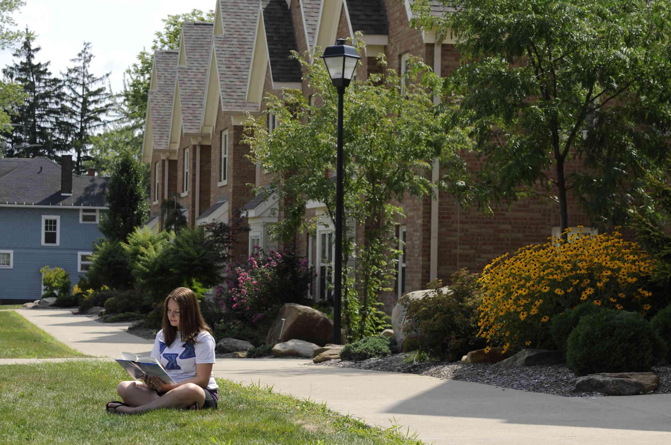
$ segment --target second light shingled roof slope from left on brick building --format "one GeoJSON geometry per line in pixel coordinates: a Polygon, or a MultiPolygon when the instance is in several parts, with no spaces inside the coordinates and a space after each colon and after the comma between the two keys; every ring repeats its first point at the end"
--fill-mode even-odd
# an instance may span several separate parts
{"type": "Polygon", "coordinates": [[[212,23],[203,21],[182,23],[187,64],[177,67],[177,82],[185,133],[200,133],[201,130],[212,27],[212,23]]]}

